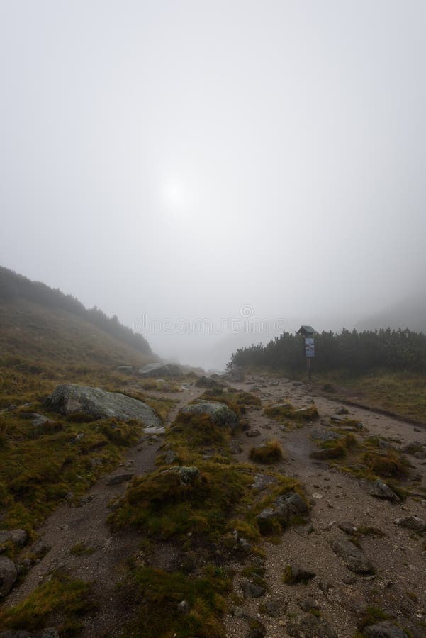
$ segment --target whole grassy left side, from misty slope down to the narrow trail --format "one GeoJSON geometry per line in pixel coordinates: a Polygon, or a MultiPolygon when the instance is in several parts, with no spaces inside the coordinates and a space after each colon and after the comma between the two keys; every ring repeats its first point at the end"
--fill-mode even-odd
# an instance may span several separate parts
{"type": "Polygon", "coordinates": [[[130,390],[131,378],[118,369],[120,364],[138,366],[153,359],[94,325],[84,313],[21,296],[0,299],[2,528],[23,527],[33,535],[57,505],[67,498],[78,503],[142,434],[140,422],[51,413],[44,404],[47,394],[61,383],[130,391],[164,417],[173,402],[150,396],[135,381],[130,390]],[[34,427],[26,415],[33,412],[52,421],[34,427]]]}

